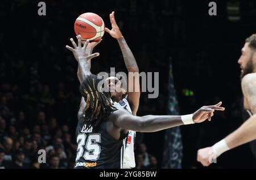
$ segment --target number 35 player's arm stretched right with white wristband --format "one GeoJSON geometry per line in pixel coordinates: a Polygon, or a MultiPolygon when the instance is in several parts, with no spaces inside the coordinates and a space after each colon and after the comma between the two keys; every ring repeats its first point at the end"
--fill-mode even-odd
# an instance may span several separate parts
{"type": "Polygon", "coordinates": [[[110,115],[110,119],[114,124],[121,128],[138,132],[156,132],[168,129],[178,125],[201,123],[206,119],[210,120],[215,110],[224,111],[224,107],[220,107],[221,102],[213,106],[203,106],[190,115],[183,116],[133,116],[126,111],[117,110],[110,115]]]}

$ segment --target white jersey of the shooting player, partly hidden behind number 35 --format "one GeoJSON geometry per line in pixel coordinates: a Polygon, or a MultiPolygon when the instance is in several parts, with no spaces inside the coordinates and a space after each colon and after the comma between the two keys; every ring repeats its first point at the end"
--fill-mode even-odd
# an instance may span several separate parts
{"type": "MultiPolygon", "coordinates": [[[[122,99],[121,101],[114,102],[114,106],[117,109],[123,108],[124,110],[131,112],[131,108],[129,106],[129,103],[127,99],[122,99]]],[[[134,156],[134,143],[135,143],[135,131],[129,131],[128,137],[125,139],[125,150],[124,150],[124,156],[123,156],[123,169],[130,169],[135,168],[135,156],[134,156]]]]}

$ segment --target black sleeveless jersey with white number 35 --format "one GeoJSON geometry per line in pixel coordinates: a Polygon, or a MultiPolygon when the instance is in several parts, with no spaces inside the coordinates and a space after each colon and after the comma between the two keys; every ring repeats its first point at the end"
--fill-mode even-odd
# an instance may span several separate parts
{"type": "Polygon", "coordinates": [[[123,144],[127,135],[115,140],[102,120],[96,129],[86,129],[84,115],[79,118],[76,129],[77,155],[75,168],[122,168],[123,144]]]}

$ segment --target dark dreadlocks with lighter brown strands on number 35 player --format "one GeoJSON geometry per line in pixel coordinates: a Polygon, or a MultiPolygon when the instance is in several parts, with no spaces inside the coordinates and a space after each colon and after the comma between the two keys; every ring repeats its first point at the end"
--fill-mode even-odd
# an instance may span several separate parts
{"type": "Polygon", "coordinates": [[[90,74],[86,76],[80,86],[80,93],[86,102],[84,110],[86,129],[96,128],[102,119],[108,118],[112,112],[117,110],[110,101],[109,92],[101,92],[97,89],[98,83],[102,79],[90,74]]]}

